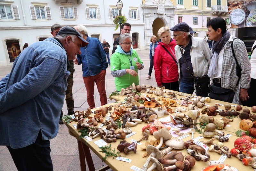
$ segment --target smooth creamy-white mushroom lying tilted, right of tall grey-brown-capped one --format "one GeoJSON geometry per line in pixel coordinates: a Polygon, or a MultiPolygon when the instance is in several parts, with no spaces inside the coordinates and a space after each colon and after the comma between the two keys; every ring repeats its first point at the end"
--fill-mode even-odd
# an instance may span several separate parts
{"type": "Polygon", "coordinates": [[[167,141],[164,142],[164,144],[169,147],[161,151],[163,156],[169,153],[173,148],[176,150],[181,150],[185,148],[185,143],[181,139],[168,139],[167,141]]]}

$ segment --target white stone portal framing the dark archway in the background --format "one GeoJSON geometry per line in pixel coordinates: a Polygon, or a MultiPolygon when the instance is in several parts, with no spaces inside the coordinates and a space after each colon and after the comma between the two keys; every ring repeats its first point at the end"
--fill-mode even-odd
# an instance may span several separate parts
{"type": "MultiPolygon", "coordinates": [[[[159,5],[159,4],[158,4],[159,5]]],[[[143,4],[141,7],[143,8],[143,19],[144,19],[144,32],[145,32],[145,49],[149,49],[149,45],[151,44],[150,38],[153,36],[157,36],[157,31],[159,30],[158,26],[154,26],[153,23],[156,20],[156,23],[161,22],[162,26],[173,27],[174,26],[174,10],[175,6],[170,6],[166,4],[162,8],[162,14],[158,13],[158,5],[155,4],[143,4]],[[163,25],[164,24],[164,25],[163,25]],[[157,29],[158,28],[158,29],[157,29]],[[153,32],[154,30],[154,32],[153,32]],[[156,31],[157,30],[157,31],[156,31]]],[[[161,28],[160,27],[160,28],[161,28]]]]}

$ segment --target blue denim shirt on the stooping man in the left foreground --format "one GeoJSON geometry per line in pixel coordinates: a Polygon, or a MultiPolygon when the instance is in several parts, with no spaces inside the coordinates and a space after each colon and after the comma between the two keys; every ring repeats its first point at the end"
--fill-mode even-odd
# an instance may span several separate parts
{"type": "Polygon", "coordinates": [[[15,59],[12,71],[0,81],[0,145],[22,148],[59,130],[67,89],[67,55],[53,39],[36,42],[15,59]]]}

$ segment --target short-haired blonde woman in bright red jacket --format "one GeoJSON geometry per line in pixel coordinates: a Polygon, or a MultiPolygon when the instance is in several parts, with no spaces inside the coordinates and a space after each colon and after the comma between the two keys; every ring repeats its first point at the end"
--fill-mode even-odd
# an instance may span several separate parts
{"type": "Polygon", "coordinates": [[[171,38],[169,27],[162,27],[157,35],[161,40],[155,49],[154,70],[157,87],[165,87],[174,91],[179,91],[178,66],[175,56],[175,40],[171,38]]]}

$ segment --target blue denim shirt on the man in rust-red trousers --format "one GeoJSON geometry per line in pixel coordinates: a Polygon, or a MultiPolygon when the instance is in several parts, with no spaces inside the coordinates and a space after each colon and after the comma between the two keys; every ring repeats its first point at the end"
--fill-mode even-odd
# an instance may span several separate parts
{"type": "Polygon", "coordinates": [[[77,54],[78,65],[83,65],[83,77],[97,75],[102,69],[108,68],[107,56],[100,40],[89,36],[86,40],[89,44],[80,48],[81,55],[77,54]]]}

